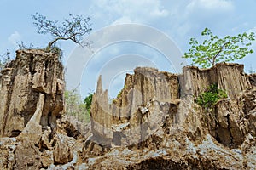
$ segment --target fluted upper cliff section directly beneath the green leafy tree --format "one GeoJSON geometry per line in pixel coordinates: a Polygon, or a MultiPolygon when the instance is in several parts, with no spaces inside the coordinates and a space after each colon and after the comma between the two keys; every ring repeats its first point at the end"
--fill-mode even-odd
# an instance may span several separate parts
{"type": "Polygon", "coordinates": [[[195,66],[183,68],[183,75],[179,77],[183,94],[197,97],[213,83],[224,89],[229,99],[238,99],[241,93],[252,87],[250,79],[243,71],[243,65],[219,63],[211,69],[198,69],[195,66]]]}

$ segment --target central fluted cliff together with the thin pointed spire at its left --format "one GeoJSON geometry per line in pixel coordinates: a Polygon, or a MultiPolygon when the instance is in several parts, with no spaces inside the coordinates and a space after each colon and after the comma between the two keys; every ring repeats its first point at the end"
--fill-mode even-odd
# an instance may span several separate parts
{"type": "Polygon", "coordinates": [[[137,144],[147,139],[146,132],[160,125],[160,116],[168,114],[168,102],[179,95],[177,75],[137,68],[134,75],[127,74],[125,88],[109,106],[108,91],[102,90],[101,81],[100,77],[92,101],[92,133],[96,143],[107,146],[137,144]]]}

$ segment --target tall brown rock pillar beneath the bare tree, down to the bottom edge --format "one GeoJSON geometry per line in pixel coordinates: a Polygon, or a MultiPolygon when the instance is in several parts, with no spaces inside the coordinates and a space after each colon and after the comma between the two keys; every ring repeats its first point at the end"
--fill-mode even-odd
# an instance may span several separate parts
{"type": "Polygon", "coordinates": [[[1,169],[39,169],[66,158],[58,150],[62,140],[54,138],[64,107],[58,58],[39,49],[18,50],[16,59],[1,71],[1,169]]]}

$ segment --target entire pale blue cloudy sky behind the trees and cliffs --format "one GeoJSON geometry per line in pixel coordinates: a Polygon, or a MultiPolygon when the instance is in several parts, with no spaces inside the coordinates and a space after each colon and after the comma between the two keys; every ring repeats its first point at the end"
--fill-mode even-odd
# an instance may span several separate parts
{"type": "MultiPolygon", "coordinates": [[[[44,48],[52,40],[36,32],[32,14],[60,21],[68,14],[89,16],[93,30],[84,41],[91,41],[91,48],[57,42],[64,52],[67,88],[79,87],[85,96],[102,75],[103,88],[113,98],[125,74],[136,66],[180,72],[190,63],[180,59],[189,39],[201,40],[206,27],[219,37],[256,32],[255,7],[256,0],[0,0],[0,54],[9,50],[14,56],[21,42],[44,48]]],[[[256,42],[252,48],[256,51],[256,42]]],[[[236,62],[244,64],[245,71],[256,70],[255,57],[249,54],[236,62]]]]}

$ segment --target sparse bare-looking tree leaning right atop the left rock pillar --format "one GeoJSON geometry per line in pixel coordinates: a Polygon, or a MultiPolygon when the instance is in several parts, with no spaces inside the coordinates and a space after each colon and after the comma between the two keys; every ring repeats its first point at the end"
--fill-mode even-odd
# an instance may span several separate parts
{"type": "Polygon", "coordinates": [[[33,24],[38,28],[39,34],[50,34],[54,37],[48,43],[47,51],[50,51],[53,44],[59,40],[71,40],[81,46],[89,45],[89,42],[82,42],[83,36],[91,31],[89,17],[84,18],[81,15],[69,14],[69,18],[65,19],[61,26],[58,25],[57,20],[47,20],[45,16],[38,13],[32,15],[32,19],[35,20],[33,24]]]}

